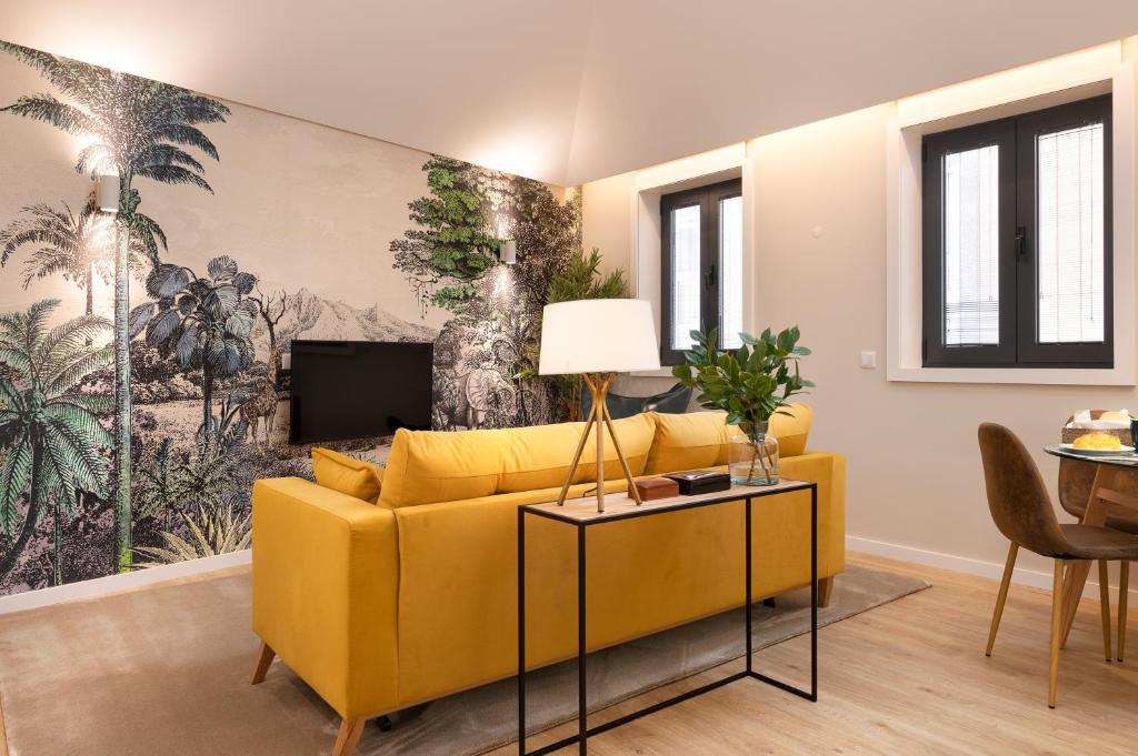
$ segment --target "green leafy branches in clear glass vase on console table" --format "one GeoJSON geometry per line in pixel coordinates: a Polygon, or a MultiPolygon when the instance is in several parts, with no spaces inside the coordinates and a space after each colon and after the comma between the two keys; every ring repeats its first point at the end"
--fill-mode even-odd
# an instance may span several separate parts
{"type": "Polygon", "coordinates": [[[790,398],[813,388],[799,374],[799,359],[810,354],[800,347],[798,326],[777,335],[766,329],[758,338],[740,333],[743,346],[720,352],[718,333],[692,331],[693,346],[684,364],[673,368],[681,383],[696,389],[696,401],[706,409],[727,413],[727,424],[739,426],[732,437],[732,482],[773,485],[778,482],[778,441],[767,434],[770,416],[790,414],[790,398]]]}

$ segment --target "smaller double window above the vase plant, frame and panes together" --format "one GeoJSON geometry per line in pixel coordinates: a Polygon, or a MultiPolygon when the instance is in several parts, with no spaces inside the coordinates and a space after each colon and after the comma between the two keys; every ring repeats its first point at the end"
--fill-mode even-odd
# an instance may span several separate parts
{"type": "Polygon", "coordinates": [[[678,365],[696,329],[719,330],[719,347],[742,346],[743,193],[739,178],[660,198],[660,362],[678,365]]]}

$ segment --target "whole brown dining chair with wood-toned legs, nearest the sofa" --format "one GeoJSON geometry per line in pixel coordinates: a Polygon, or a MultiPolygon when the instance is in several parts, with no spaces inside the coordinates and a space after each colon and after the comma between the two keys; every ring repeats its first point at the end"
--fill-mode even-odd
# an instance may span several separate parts
{"type": "Polygon", "coordinates": [[[980,457],[984,470],[988,508],[999,531],[1012,546],[1004,566],[986,654],[991,656],[996,632],[1004,614],[1012,572],[1020,548],[1054,559],[1052,582],[1050,663],[1048,666],[1047,705],[1055,708],[1058,686],[1059,640],[1064,570],[1078,560],[1097,560],[1103,614],[1103,645],[1111,659],[1111,605],[1107,593],[1106,564],[1111,560],[1138,559],[1138,535],[1094,525],[1061,525],[1055,517],[1047,487],[1031,455],[1015,434],[995,423],[982,423],[978,433],[980,457]]]}

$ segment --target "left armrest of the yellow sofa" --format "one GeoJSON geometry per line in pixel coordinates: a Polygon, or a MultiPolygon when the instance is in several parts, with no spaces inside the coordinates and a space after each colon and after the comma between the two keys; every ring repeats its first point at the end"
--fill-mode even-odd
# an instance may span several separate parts
{"type": "Polygon", "coordinates": [[[391,510],[299,477],[253,487],[253,630],[343,717],[398,699],[391,510]]]}

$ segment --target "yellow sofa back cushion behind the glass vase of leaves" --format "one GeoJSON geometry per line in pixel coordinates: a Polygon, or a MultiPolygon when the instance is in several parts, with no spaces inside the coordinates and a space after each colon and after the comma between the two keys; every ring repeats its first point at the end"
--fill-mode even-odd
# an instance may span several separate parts
{"type": "MultiPolygon", "coordinates": [[[[797,457],[806,451],[814,410],[797,404],[785,408],[787,415],[770,418],[770,432],[778,439],[782,457],[797,457]]],[[[683,415],[655,415],[655,439],[649,452],[649,475],[678,470],[700,470],[727,464],[727,443],[739,432],[727,425],[726,413],[704,412],[683,415]]]]}

